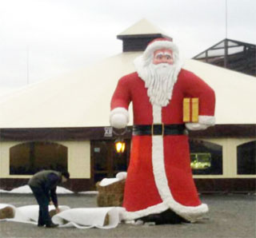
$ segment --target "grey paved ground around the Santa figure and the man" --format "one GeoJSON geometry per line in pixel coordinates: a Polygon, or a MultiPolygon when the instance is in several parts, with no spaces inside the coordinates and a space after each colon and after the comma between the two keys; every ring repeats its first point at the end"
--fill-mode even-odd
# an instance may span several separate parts
{"type": "MultiPolygon", "coordinates": [[[[131,225],[119,224],[117,228],[38,228],[32,224],[0,222],[0,237],[171,237],[171,238],[255,238],[255,195],[203,195],[202,202],[210,207],[207,217],[197,224],[131,225]]],[[[95,207],[94,195],[59,195],[59,204],[71,208],[95,207]]],[[[0,194],[0,203],[16,207],[36,204],[32,195],[0,194]]]]}

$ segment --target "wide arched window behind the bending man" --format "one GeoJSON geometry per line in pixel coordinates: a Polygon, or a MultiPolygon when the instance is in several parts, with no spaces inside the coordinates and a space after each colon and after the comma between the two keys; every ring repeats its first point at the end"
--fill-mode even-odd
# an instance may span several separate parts
{"type": "Polygon", "coordinates": [[[67,148],[51,142],[26,142],[10,148],[10,175],[42,169],[67,170],[67,148]]]}

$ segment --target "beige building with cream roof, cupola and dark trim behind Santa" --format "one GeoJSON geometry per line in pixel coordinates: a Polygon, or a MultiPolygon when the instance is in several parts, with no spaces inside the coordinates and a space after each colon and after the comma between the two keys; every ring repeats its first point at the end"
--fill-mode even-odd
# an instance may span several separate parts
{"type": "MultiPolygon", "coordinates": [[[[26,184],[39,169],[68,169],[67,187],[85,191],[126,170],[131,127],[123,135],[126,152],[120,155],[109,126],[110,98],[118,79],[134,72],[134,58],[162,36],[143,19],[118,35],[121,54],[0,97],[0,187],[26,184]]],[[[256,78],[195,60],[185,61],[184,68],[202,77],[217,98],[216,125],[190,133],[199,191],[254,191],[256,78]]]]}

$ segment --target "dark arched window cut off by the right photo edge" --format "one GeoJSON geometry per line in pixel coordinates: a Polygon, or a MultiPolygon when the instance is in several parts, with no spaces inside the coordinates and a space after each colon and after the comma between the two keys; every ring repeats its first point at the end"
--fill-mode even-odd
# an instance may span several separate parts
{"type": "Polygon", "coordinates": [[[237,147],[238,174],[256,174],[256,141],[237,147]]]}

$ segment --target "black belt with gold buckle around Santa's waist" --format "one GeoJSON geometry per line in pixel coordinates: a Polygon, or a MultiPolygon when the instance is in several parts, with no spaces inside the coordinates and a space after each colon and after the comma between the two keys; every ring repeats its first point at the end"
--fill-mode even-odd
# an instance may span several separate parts
{"type": "Polygon", "coordinates": [[[152,124],[152,125],[134,125],[134,136],[165,136],[165,135],[183,135],[186,134],[184,124],[152,124]]]}

